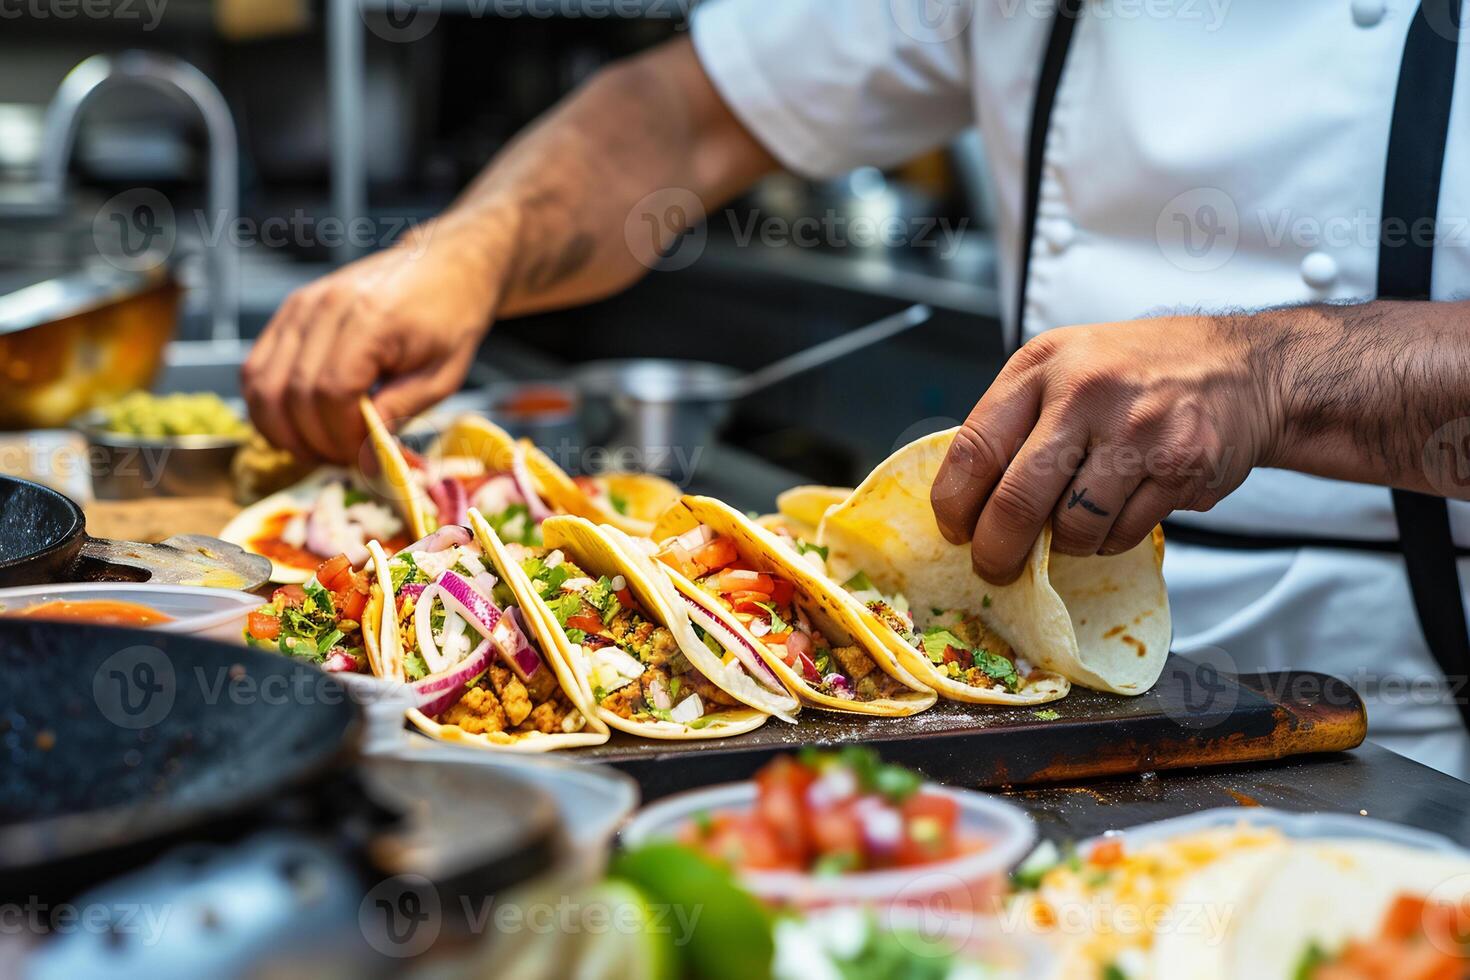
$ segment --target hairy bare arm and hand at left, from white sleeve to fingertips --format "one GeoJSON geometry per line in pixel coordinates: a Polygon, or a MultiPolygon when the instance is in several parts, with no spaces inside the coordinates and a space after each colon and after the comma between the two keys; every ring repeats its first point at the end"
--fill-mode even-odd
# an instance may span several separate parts
{"type": "Polygon", "coordinates": [[[360,460],[360,395],[378,388],[390,420],[440,401],[497,316],[631,285],[700,210],[775,166],[686,38],[613,65],[444,215],[294,292],[245,363],[251,419],[298,455],[360,460]]]}

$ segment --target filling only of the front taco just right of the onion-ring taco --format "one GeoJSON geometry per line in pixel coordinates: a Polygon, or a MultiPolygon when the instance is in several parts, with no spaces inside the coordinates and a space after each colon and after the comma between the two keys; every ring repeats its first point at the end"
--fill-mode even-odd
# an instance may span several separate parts
{"type": "MultiPolygon", "coordinates": [[[[623,576],[594,579],[560,550],[512,551],[567,641],[581,646],[598,707],[629,721],[691,729],[745,707],[689,663],[669,627],[639,607],[623,576]]],[[[725,655],[711,639],[706,642],[725,655]]]]}

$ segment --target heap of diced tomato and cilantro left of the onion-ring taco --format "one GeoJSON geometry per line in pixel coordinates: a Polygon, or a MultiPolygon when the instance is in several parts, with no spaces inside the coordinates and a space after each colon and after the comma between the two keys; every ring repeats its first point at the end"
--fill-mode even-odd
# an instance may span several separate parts
{"type": "Polygon", "coordinates": [[[245,642],[328,671],[366,673],[362,617],[370,589],[370,570],[353,570],[347,555],[328,558],[306,585],[281,586],[245,617],[245,642]]]}

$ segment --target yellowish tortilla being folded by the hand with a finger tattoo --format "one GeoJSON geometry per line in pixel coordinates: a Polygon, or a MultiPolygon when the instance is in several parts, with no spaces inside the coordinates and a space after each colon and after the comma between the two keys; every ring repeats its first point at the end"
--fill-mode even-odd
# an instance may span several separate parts
{"type": "Polygon", "coordinates": [[[953,439],[950,429],[911,442],[826,511],[817,542],[829,550],[833,577],[863,570],[916,610],[976,614],[1017,657],[1085,688],[1148,691],[1172,636],[1163,532],[1120,555],[1073,558],[1051,552],[1048,525],[1020,579],[989,585],[975,574],[969,545],[944,539],[929,505],[953,439]]]}

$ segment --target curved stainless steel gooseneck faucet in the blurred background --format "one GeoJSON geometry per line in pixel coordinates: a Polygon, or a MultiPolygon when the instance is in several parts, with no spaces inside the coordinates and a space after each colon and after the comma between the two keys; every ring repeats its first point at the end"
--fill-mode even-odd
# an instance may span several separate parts
{"type": "Polygon", "coordinates": [[[119,85],[140,85],[182,96],[198,109],[209,141],[209,220],[218,241],[206,242],[209,270],[210,336],[240,338],[240,257],[234,245],[234,222],[240,215],[240,159],[235,120],[215,82],[190,65],[168,54],[123,51],[94,54],[74,68],[46,110],[41,138],[40,204],[60,206],[66,200],[66,170],[76,144],[82,109],[97,93],[119,85]]]}

